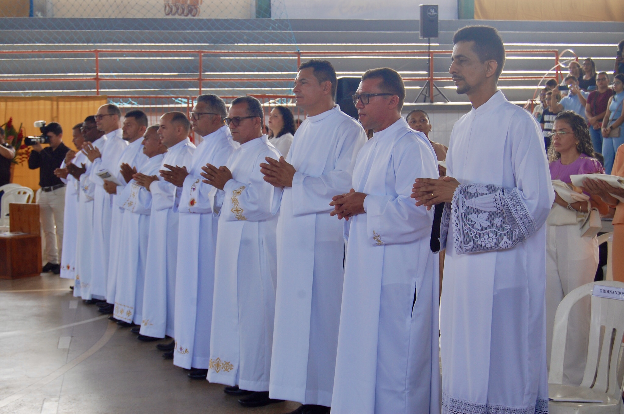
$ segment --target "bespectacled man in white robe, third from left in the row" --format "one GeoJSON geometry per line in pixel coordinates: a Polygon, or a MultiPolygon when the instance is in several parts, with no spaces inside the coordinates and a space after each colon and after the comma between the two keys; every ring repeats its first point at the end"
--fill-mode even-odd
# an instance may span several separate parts
{"type": "MultiPolygon", "coordinates": [[[[100,149],[92,144],[85,144],[82,151],[87,154],[93,166],[89,172],[90,181],[95,184],[93,200],[93,238],[91,241],[91,282],[87,296],[95,299],[106,299],[106,288],[109,268],[110,220],[112,216],[112,195],[104,189],[103,174],[111,176],[119,170],[119,159],[128,143],[122,138],[119,128],[121,111],[117,105],[102,105],[95,114],[97,129],[103,131],[106,142],[100,149]]],[[[84,291],[83,286],[83,291],[84,291]]],[[[85,298],[85,296],[82,296],[85,298]]]]}

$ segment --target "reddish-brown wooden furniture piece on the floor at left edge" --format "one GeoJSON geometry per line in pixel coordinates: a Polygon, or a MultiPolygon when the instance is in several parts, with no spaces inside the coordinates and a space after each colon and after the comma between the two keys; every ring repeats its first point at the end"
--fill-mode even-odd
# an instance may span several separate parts
{"type": "Polygon", "coordinates": [[[9,204],[11,234],[0,234],[0,279],[41,275],[39,205],[9,204]]]}

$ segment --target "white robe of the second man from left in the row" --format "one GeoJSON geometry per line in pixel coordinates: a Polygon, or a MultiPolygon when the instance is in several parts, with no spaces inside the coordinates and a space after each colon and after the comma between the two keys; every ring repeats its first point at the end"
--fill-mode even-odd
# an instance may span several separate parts
{"type": "MultiPolygon", "coordinates": [[[[106,141],[106,136],[101,136],[93,142],[93,146],[101,152],[106,141]]],[[[81,167],[82,164],[84,164],[87,170],[80,176],[78,183],[78,231],[76,233],[76,283],[74,285],[74,296],[88,300],[92,299],[91,262],[93,257],[93,200],[95,197],[95,184],[90,179],[90,172],[93,167],[92,162],[85,156],[84,162],[76,164],[76,166],[81,167]]],[[[104,298],[99,296],[97,299],[104,298]]]]}

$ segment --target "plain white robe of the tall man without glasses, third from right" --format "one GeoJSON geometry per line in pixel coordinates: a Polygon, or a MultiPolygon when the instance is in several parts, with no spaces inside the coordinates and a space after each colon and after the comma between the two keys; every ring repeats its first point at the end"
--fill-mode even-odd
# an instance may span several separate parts
{"type": "Polygon", "coordinates": [[[343,225],[330,217],[336,194],[351,189],[366,133],[338,105],[308,116],[286,161],[277,227],[277,290],[270,397],[329,406],[343,292],[343,225]]]}

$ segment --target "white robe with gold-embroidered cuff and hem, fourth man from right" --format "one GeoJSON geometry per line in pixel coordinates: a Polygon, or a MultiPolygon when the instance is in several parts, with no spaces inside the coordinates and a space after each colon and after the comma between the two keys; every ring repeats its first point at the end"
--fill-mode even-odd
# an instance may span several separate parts
{"type": "Polygon", "coordinates": [[[242,144],[226,164],[233,178],[211,193],[219,225],[208,380],[249,391],[269,389],[281,188],[260,163],[280,156],[266,135],[242,144]]]}

